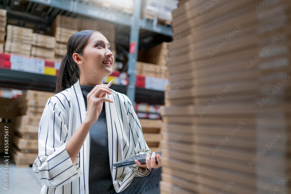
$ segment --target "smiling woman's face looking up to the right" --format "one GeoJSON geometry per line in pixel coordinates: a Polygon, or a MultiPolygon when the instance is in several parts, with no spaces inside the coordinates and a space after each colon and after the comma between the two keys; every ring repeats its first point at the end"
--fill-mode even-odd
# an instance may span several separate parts
{"type": "Polygon", "coordinates": [[[114,57],[108,40],[101,33],[91,35],[80,58],[80,79],[86,80],[86,84],[102,84],[102,79],[112,74],[114,57]]]}

